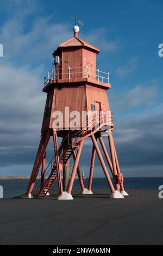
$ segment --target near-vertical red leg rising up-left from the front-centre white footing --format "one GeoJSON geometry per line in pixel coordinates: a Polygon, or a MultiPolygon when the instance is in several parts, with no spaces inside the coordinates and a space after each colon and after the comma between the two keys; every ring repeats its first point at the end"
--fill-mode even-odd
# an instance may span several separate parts
{"type": "Polygon", "coordinates": [[[59,194],[62,194],[63,190],[62,190],[62,180],[61,180],[61,172],[60,172],[58,141],[57,141],[56,131],[53,131],[53,143],[54,143],[54,153],[55,153],[55,161],[56,161],[56,168],[57,168],[58,190],[59,190],[59,194]]]}

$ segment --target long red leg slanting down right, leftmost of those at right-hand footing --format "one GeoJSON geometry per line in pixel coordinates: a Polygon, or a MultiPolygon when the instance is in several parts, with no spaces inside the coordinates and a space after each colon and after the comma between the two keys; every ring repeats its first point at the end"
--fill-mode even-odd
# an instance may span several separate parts
{"type": "Polygon", "coordinates": [[[96,149],[96,152],[97,152],[99,161],[101,162],[101,165],[102,165],[102,168],[103,168],[103,171],[104,171],[106,180],[108,181],[110,190],[111,190],[112,193],[115,193],[115,189],[114,189],[114,186],[112,185],[112,181],[111,181],[111,179],[110,179],[108,170],[107,170],[107,168],[106,168],[106,166],[105,166],[105,162],[104,162],[104,160],[103,160],[101,151],[99,150],[99,147],[98,147],[96,138],[95,138],[95,136],[94,136],[93,134],[91,135],[91,139],[92,139],[93,145],[95,146],[95,149],[96,149]]]}

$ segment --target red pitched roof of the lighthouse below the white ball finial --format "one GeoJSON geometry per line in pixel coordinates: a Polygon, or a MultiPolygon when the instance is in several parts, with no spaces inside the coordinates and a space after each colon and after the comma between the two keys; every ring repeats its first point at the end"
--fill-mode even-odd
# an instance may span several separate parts
{"type": "Polygon", "coordinates": [[[83,39],[78,38],[78,37],[73,37],[65,42],[62,42],[62,44],[60,44],[58,46],[57,50],[59,50],[59,48],[62,48],[62,47],[74,47],[74,46],[85,46],[87,48],[91,48],[92,50],[94,50],[97,53],[100,52],[99,48],[91,45],[89,42],[86,42],[83,39]]]}

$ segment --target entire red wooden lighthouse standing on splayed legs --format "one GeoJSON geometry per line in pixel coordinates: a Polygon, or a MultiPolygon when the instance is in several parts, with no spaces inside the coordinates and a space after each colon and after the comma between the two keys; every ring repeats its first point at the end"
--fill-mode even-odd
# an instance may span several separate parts
{"type": "MultiPolygon", "coordinates": [[[[39,183],[36,197],[48,195],[53,185],[58,185],[58,199],[73,199],[73,182],[78,174],[83,194],[92,194],[92,178],[95,155],[101,163],[103,172],[111,190],[112,198],[128,196],[123,187],[123,175],[118,164],[112,131],[114,130],[114,114],[110,112],[106,91],[111,88],[109,72],[99,71],[96,56],[99,48],[78,37],[79,27],[73,28],[74,37],[60,44],[54,51],[52,70],[45,77],[43,92],[47,93],[45,112],[43,114],[41,139],[37,150],[32,174],[25,197],[32,198],[35,185],[39,183]],[[102,136],[108,137],[110,153],[106,150],[102,136]],[[53,138],[54,156],[46,164],[46,150],[49,139],[53,138]],[[58,143],[58,138],[61,143],[58,143]],[[79,160],[85,139],[92,141],[90,154],[89,185],[84,187],[80,173],[79,160]],[[104,162],[99,140],[110,174],[104,162]],[[110,155],[110,156],[109,156],[110,155]],[[62,188],[62,169],[70,157],[73,168],[66,191],[62,188]],[[36,181],[41,168],[41,179],[36,181]]],[[[89,157],[88,157],[89,159],[89,157]]]]}

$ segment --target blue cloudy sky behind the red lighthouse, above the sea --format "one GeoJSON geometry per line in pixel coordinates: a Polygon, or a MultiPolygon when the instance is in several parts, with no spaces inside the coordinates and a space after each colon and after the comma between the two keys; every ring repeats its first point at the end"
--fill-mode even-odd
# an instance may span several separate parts
{"type": "MultiPolygon", "coordinates": [[[[122,173],[162,176],[163,57],[158,56],[158,45],[163,43],[163,2],[1,0],[0,4],[4,46],[0,175],[30,175],[46,99],[43,77],[51,68],[53,50],[73,36],[71,17],[77,13],[84,21],[79,37],[101,48],[98,68],[110,71],[108,97],[115,113],[122,173]]],[[[89,140],[84,165],[88,153],[89,140]]],[[[96,176],[101,174],[96,161],[96,176]]]]}

